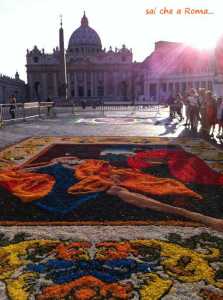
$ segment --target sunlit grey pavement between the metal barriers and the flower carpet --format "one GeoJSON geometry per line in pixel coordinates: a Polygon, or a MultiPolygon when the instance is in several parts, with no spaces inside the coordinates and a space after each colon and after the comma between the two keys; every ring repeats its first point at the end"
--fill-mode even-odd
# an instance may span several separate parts
{"type": "MultiPolygon", "coordinates": [[[[184,127],[184,120],[169,119],[169,111],[81,113],[57,111],[56,117],[7,124],[0,129],[0,148],[30,136],[160,136],[199,137],[184,127]]],[[[219,142],[219,141],[218,141],[219,142]]]]}

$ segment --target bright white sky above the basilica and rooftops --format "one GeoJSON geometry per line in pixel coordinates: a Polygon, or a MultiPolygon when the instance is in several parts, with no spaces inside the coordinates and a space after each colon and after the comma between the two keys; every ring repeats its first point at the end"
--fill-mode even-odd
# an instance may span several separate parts
{"type": "Polygon", "coordinates": [[[26,49],[37,45],[51,53],[59,44],[63,15],[65,48],[80,26],[84,10],[103,48],[133,49],[134,61],[143,61],[159,40],[214,48],[223,35],[222,0],[0,0],[0,73],[26,81],[26,49]],[[160,9],[173,14],[160,14],[160,9]],[[185,8],[208,9],[208,15],[185,15],[185,8]],[[156,9],[155,14],[146,14],[156,9]],[[177,15],[176,9],[182,9],[177,15]]]}

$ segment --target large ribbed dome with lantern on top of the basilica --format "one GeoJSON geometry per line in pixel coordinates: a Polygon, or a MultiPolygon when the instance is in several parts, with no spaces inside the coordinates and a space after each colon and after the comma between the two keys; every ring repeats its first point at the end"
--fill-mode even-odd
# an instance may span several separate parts
{"type": "Polygon", "coordinates": [[[101,39],[97,32],[88,25],[88,19],[84,13],[81,26],[70,37],[68,50],[78,53],[83,51],[92,53],[99,52],[101,47],[101,39]]]}

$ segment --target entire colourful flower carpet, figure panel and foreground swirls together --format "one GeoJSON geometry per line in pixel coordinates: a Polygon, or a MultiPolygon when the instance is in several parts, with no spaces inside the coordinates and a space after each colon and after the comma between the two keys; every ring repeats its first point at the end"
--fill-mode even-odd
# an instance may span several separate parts
{"type": "Polygon", "coordinates": [[[221,221],[222,174],[223,151],[201,139],[35,137],[3,149],[0,299],[223,299],[223,227],[109,193],[221,221]]]}

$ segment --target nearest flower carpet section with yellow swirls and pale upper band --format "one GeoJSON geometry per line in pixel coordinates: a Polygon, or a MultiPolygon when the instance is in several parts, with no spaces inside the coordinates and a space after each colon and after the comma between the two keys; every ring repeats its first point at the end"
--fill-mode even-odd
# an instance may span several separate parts
{"type": "Polygon", "coordinates": [[[223,297],[223,235],[205,228],[6,227],[0,246],[1,299],[223,297]]]}

